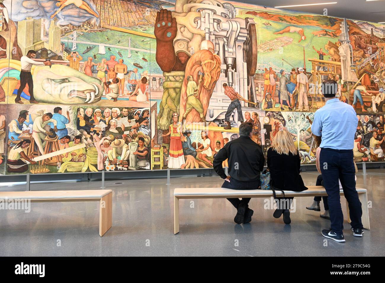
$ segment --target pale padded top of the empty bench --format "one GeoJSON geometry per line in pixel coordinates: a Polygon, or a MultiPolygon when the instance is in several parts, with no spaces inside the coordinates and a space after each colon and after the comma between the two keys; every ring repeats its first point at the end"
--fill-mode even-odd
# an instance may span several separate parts
{"type": "Polygon", "coordinates": [[[0,199],[102,198],[109,193],[112,193],[112,190],[0,192],[0,199]]]}

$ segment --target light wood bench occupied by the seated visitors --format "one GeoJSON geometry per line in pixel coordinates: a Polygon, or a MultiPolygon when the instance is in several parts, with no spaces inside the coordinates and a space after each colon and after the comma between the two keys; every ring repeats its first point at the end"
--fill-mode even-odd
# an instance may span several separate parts
{"type": "MultiPolygon", "coordinates": [[[[370,229],[367,190],[357,188],[358,198],[362,204],[362,224],[363,228],[370,229]]],[[[340,190],[343,196],[343,191],[340,190]]],[[[280,191],[276,191],[277,197],[282,197],[280,191]]],[[[303,192],[285,191],[285,197],[300,196],[327,196],[325,188],[322,186],[308,186],[303,192]]],[[[174,234],[179,233],[179,199],[213,199],[213,198],[270,198],[273,197],[271,190],[232,190],[226,188],[176,188],[174,190],[174,234]]],[[[346,202],[346,209],[349,208],[346,202]]]]}

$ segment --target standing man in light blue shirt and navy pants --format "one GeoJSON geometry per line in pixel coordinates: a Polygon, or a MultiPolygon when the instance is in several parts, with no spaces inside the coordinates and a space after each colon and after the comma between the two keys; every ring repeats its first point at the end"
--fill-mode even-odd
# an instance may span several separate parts
{"type": "Polygon", "coordinates": [[[335,97],[337,87],[335,80],[322,83],[325,105],[315,112],[311,132],[315,136],[322,136],[320,164],[331,220],[331,228],[322,230],[322,235],[337,242],[345,242],[338,179],[349,204],[353,236],[362,237],[363,234],[362,208],[356,191],[352,150],[358,119],[351,105],[335,97]]]}

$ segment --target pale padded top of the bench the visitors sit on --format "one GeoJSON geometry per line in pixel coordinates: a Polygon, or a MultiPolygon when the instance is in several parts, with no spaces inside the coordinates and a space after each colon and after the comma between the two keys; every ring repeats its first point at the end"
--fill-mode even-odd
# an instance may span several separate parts
{"type": "MultiPolygon", "coordinates": [[[[367,190],[356,188],[357,192],[364,193],[367,190]]],[[[284,191],[285,194],[316,194],[325,193],[325,188],[322,186],[308,186],[306,191],[294,192],[284,191]]],[[[340,190],[343,193],[342,190],[340,190]]],[[[282,194],[281,191],[276,191],[277,194],[282,194]]],[[[174,190],[174,196],[227,196],[227,195],[273,195],[271,190],[233,190],[226,188],[176,188],[174,190]]]]}

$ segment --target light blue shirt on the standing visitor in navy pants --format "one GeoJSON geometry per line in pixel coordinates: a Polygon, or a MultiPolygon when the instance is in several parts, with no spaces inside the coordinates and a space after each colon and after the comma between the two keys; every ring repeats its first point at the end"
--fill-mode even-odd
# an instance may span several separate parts
{"type": "Polygon", "coordinates": [[[322,136],[321,148],[353,149],[358,118],[351,105],[338,98],[326,101],[314,114],[311,131],[322,136]]]}

